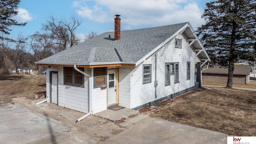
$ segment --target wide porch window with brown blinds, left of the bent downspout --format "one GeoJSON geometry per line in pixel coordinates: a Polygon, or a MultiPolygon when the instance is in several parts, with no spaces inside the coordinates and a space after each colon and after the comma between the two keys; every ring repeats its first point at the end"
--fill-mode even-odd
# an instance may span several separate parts
{"type": "MultiPolygon", "coordinates": [[[[84,68],[78,68],[84,72],[84,68]]],[[[64,84],[69,86],[84,87],[84,75],[73,67],[64,67],[64,84]]]]}

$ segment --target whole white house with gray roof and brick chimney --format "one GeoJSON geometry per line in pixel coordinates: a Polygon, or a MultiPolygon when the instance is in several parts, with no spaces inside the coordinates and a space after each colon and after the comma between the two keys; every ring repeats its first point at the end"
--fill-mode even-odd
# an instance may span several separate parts
{"type": "Polygon", "coordinates": [[[189,22],[120,31],[120,20],[116,15],[115,32],[36,62],[50,66],[47,102],[85,113],[138,110],[198,87],[195,64],[210,58],[189,22]]]}

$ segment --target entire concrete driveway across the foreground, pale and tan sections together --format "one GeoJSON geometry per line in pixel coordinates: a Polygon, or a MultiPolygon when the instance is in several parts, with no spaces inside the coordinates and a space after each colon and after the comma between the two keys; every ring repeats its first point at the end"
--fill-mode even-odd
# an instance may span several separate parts
{"type": "Polygon", "coordinates": [[[83,116],[84,113],[49,103],[35,105],[36,101],[31,102],[24,98],[18,98],[14,102],[24,109],[19,105],[0,105],[1,144],[227,143],[227,134],[160,118],[148,117],[127,126],[120,126],[92,115],[75,123],[76,118],[83,116]]]}

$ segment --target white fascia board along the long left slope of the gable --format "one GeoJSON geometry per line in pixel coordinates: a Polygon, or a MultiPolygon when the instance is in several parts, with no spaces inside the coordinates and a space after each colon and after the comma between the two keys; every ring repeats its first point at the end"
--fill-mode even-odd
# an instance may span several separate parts
{"type": "Polygon", "coordinates": [[[187,24],[185,24],[182,28],[180,28],[180,30],[178,30],[177,32],[175,32],[172,36],[170,36],[169,38],[167,38],[164,42],[162,42],[161,44],[159,44],[156,48],[154,48],[151,52],[149,52],[148,54],[146,54],[145,56],[143,56],[140,60],[138,60],[136,62],[136,66],[138,66],[140,63],[144,62],[144,60],[147,60],[150,56],[152,56],[152,54],[154,54],[156,51],[158,51],[160,48],[162,48],[162,46],[164,46],[167,42],[169,42],[170,40],[172,40],[172,38],[175,38],[180,32],[184,31],[184,29],[186,29],[189,26],[189,22],[187,24]]]}

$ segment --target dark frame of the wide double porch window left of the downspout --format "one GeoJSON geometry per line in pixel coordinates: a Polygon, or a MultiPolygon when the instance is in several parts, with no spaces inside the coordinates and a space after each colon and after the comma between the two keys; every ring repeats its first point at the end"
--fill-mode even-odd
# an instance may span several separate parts
{"type": "MultiPolygon", "coordinates": [[[[84,68],[78,68],[79,70],[82,70],[84,72],[84,68]]],[[[64,77],[64,82],[63,84],[64,85],[68,85],[68,86],[76,86],[76,87],[81,87],[81,88],[84,88],[84,74],[82,75],[75,75],[75,69],[73,67],[63,67],[63,77],[64,77]],[[72,68],[72,74],[66,74],[66,68],[72,68]],[[72,83],[69,83],[69,82],[65,82],[66,81],[66,78],[65,76],[66,75],[71,75],[72,76],[72,83]],[[75,84],[75,76],[81,76],[82,77],[82,84],[75,84]]]]}

